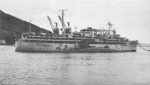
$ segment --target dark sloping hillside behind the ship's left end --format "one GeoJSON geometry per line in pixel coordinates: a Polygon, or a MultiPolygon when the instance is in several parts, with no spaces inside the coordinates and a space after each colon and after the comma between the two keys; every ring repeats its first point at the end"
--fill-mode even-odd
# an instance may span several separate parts
{"type": "MultiPolygon", "coordinates": [[[[10,14],[6,14],[0,10],[0,39],[4,39],[7,44],[15,42],[15,35],[19,36],[23,32],[29,31],[29,22],[21,20],[10,14]]],[[[39,34],[42,32],[50,32],[34,24],[31,24],[32,32],[39,34]]]]}

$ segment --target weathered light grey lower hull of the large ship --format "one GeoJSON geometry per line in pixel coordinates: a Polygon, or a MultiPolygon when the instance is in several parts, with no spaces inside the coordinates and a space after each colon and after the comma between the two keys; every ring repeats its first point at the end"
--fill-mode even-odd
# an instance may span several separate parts
{"type": "Polygon", "coordinates": [[[80,48],[77,43],[42,43],[16,41],[15,51],[19,52],[135,52],[137,41],[128,41],[126,44],[89,44],[89,47],[80,48]]]}

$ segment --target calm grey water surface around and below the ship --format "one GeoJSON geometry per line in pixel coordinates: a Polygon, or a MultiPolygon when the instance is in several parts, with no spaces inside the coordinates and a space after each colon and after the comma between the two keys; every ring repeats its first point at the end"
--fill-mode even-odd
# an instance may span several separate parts
{"type": "Polygon", "coordinates": [[[0,85],[150,85],[150,51],[20,53],[0,46],[0,85]]]}

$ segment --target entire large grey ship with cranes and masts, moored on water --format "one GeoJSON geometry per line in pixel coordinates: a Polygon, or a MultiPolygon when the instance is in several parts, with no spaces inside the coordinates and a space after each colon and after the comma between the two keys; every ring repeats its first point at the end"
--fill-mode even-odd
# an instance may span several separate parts
{"type": "Polygon", "coordinates": [[[51,18],[48,20],[52,27],[51,34],[36,35],[23,33],[15,42],[16,52],[65,52],[65,53],[101,53],[101,52],[136,52],[138,40],[129,40],[121,37],[108,22],[108,29],[87,27],[79,32],[72,32],[70,23],[66,27],[64,10],[59,16],[62,28],[53,25],[51,18]],[[60,33],[61,32],[61,33],[60,33]]]}

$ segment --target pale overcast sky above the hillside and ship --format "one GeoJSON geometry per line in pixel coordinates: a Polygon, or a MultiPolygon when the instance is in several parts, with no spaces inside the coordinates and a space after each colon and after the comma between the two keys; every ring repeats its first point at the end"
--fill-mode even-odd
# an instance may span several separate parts
{"type": "Polygon", "coordinates": [[[0,9],[51,30],[47,15],[59,22],[60,9],[72,29],[100,28],[108,21],[123,37],[150,43],[150,0],[0,0],[0,9]]]}

